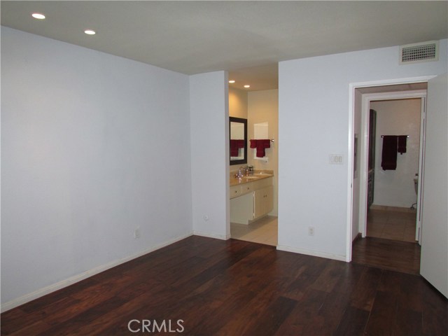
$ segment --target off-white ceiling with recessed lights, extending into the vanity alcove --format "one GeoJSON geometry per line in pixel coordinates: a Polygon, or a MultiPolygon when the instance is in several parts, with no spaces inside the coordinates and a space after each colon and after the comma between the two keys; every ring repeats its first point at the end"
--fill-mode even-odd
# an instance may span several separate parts
{"type": "Polygon", "coordinates": [[[278,87],[279,61],[447,38],[447,8],[447,1],[1,1],[1,25],[188,75],[225,70],[233,87],[267,90],[278,87]]]}

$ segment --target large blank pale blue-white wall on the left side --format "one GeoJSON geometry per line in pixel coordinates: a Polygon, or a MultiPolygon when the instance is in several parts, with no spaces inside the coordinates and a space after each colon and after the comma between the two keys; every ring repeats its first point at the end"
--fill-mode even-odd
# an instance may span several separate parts
{"type": "Polygon", "coordinates": [[[191,234],[188,85],[1,27],[2,307],[191,234]]]}

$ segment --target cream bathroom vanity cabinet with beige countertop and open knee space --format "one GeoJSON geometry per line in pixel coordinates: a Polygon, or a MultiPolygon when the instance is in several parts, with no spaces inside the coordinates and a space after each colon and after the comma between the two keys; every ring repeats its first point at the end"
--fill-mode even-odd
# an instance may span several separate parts
{"type": "Polygon", "coordinates": [[[272,173],[255,172],[230,179],[230,221],[248,224],[266,216],[274,207],[272,173]]]}

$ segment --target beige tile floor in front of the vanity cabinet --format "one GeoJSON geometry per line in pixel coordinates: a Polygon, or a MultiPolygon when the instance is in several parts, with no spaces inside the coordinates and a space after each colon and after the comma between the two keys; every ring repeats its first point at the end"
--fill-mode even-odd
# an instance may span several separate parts
{"type": "Polygon", "coordinates": [[[277,223],[275,216],[266,216],[248,225],[230,223],[230,235],[234,239],[277,246],[277,223]]]}

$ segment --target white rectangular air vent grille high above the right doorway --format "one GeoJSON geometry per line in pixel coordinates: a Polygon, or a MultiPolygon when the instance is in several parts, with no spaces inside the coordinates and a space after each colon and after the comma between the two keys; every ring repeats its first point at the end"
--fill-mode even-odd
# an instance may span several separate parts
{"type": "Polygon", "coordinates": [[[439,59],[439,41],[400,46],[400,64],[431,62],[439,59]]]}

